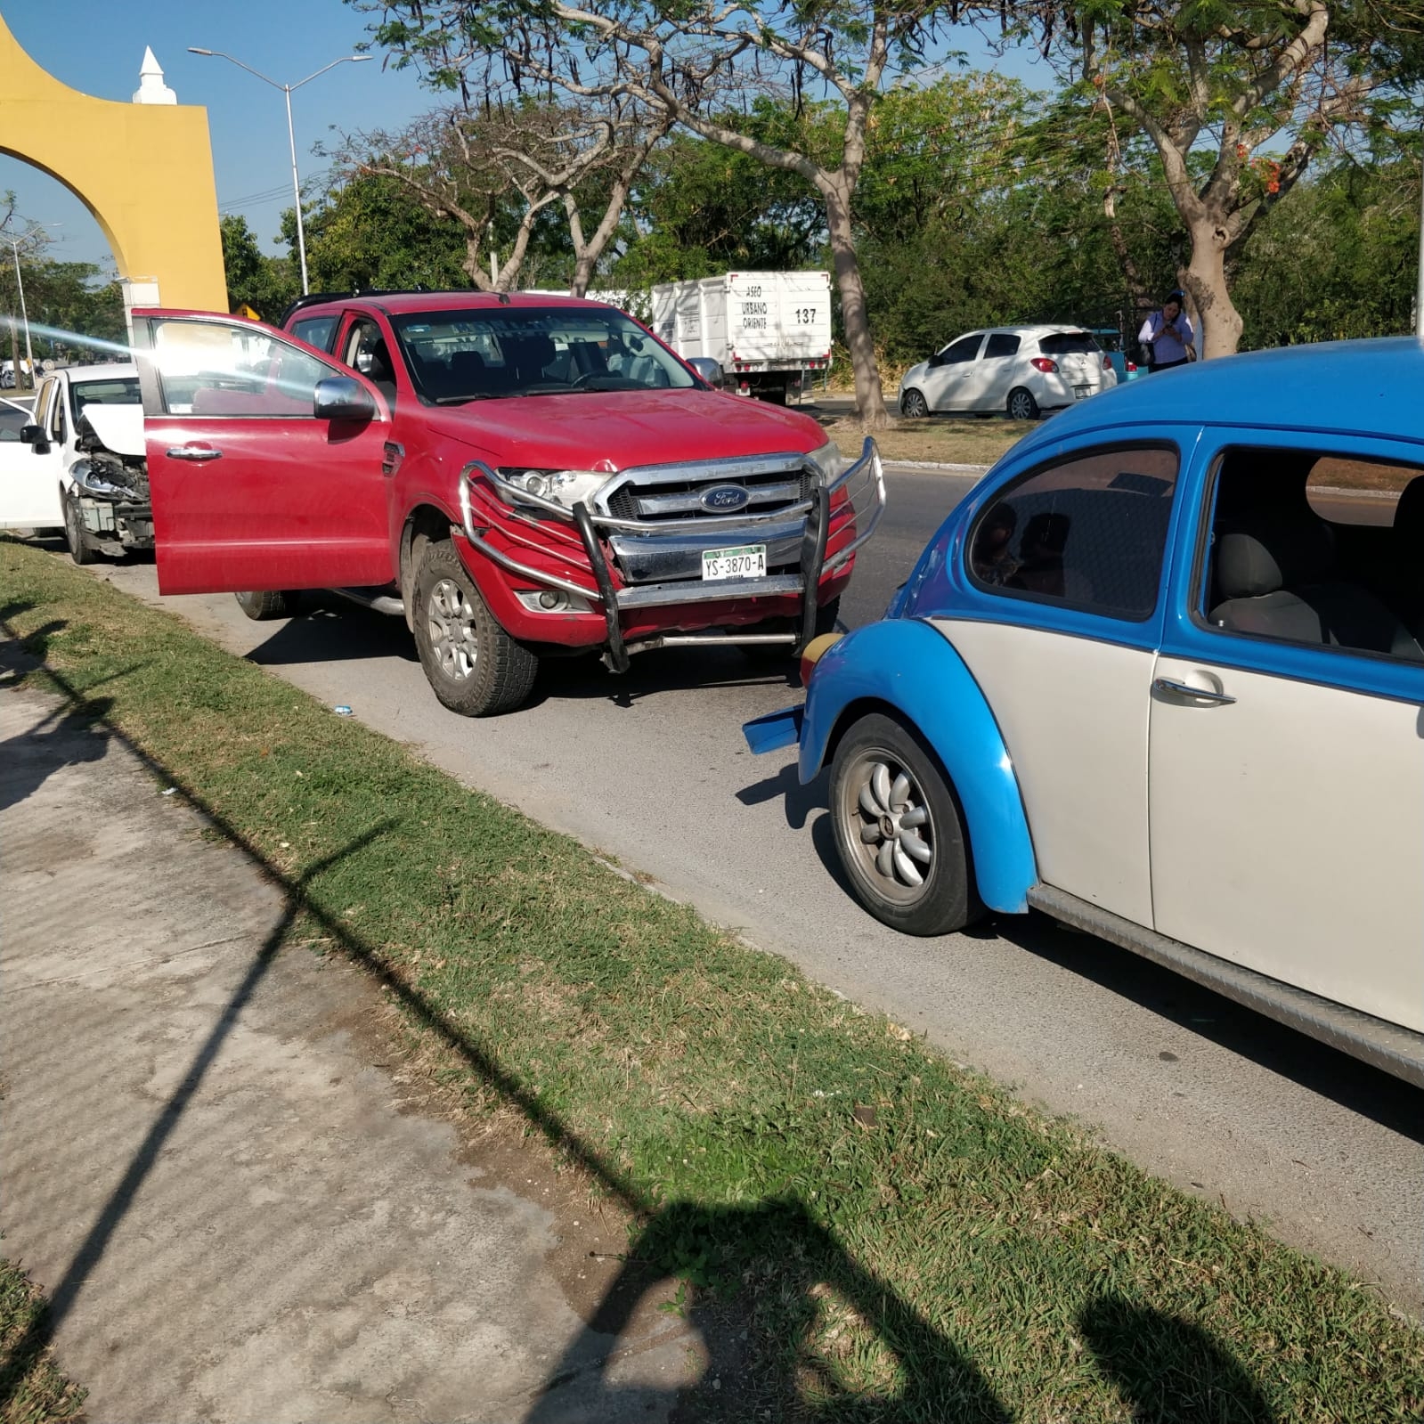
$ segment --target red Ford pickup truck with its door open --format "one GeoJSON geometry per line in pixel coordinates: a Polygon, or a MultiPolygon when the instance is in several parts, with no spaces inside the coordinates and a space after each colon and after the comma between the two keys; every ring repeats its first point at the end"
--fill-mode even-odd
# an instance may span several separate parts
{"type": "Polygon", "coordinates": [[[468,716],[520,706],[543,656],[790,655],[884,508],[873,441],[847,464],[598,302],[319,296],[283,326],[134,313],[159,590],[403,612],[468,716]]]}

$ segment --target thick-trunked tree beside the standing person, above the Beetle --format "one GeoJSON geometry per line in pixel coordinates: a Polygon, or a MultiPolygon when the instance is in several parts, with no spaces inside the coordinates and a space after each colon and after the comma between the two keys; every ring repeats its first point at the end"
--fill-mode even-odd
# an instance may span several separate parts
{"type": "Polygon", "coordinates": [[[1018,0],[1014,13],[1077,94],[1151,140],[1206,356],[1240,342],[1229,276],[1263,219],[1329,144],[1386,122],[1418,71],[1417,0],[1018,0]]]}

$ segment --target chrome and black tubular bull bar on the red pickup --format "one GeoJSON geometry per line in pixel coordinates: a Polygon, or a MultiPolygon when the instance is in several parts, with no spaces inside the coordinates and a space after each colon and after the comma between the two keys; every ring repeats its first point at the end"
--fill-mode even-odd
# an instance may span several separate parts
{"type": "MultiPolygon", "coordinates": [[[[787,460],[795,460],[795,456],[789,456],[787,460]]],[[[820,588],[822,578],[849,562],[856,550],[859,550],[862,544],[864,544],[866,540],[874,534],[876,525],[884,514],[884,467],[880,460],[880,451],[870,436],[866,437],[866,441],[862,446],[860,459],[847,466],[846,470],[843,470],[830,484],[817,484],[813,494],[806,500],[800,500],[793,506],[782,507],[763,514],[739,513],[733,515],[702,515],[689,521],[624,520],[602,511],[590,510],[584,501],[577,503],[572,510],[567,510],[562,504],[557,504],[554,500],[531,494],[528,490],[521,490],[517,484],[511,484],[483,460],[473,460],[460,471],[460,520],[463,525],[460,533],[464,534],[473,548],[478,550],[486,558],[507,572],[528,580],[535,585],[558,590],[564,594],[572,594],[577,598],[582,598],[600,607],[608,627],[608,652],[605,654],[605,661],[615,672],[627,671],[629,652],[638,652],[649,646],[669,645],[668,639],[664,638],[639,639],[639,642],[632,648],[625,646],[622,629],[618,621],[618,615],[624,609],[665,608],[676,604],[703,604],[721,600],[729,601],[735,598],[765,598],[768,595],[800,594],[800,637],[795,638],[795,642],[796,646],[805,646],[810,642],[815,634],[816,592],[820,588]],[[574,525],[578,531],[580,543],[584,545],[584,553],[588,557],[588,567],[594,575],[595,587],[590,588],[587,584],[574,578],[564,578],[558,574],[534,568],[530,564],[524,564],[520,560],[513,558],[510,554],[506,554],[503,550],[491,544],[486,537],[488,534],[488,525],[480,525],[476,523],[474,501],[470,494],[470,487],[477,478],[486,480],[513,508],[527,507],[537,510],[541,514],[551,515],[565,524],[574,525]],[[826,538],[830,533],[830,504],[833,496],[840,491],[844,491],[847,498],[852,501],[857,524],[856,537],[843,548],[836,550],[836,553],[827,560],[826,538]],[[856,500],[863,494],[870,496],[869,508],[864,510],[862,510],[856,503],[856,500]],[[713,584],[695,580],[676,580],[674,582],[664,584],[635,584],[622,590],[615,590],[612,585],[612,575],[608,571],[608,560],[604,555],[602,545],[600,543],[600,531],[608,530],[654,535],[666,535],[672,533],[686,534],[692,531],[715,534],[721,531],[738,530],[748,538],[755,538],[756,531],[760,527],[776,524],[785,525],[789,518],[797,515],[805,517],[800,548],[800,571],[796,574],[778,574],[768,578],[735,578],[713,584]]],[[[785,634],[748,634],[745,641],[766,642],[772,638],[786,642],[793,641],[790,635],[785,634]]],[[[686,642],[726,644],[739,641],[743,639],[738,638],[736,634],[709,634],[705,637],[696,634],[678,635],[679,645],[686,642]]]]}

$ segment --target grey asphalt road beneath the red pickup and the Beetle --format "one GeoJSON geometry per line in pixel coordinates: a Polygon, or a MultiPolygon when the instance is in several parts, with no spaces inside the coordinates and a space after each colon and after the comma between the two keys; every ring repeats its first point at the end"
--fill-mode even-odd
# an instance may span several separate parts
{"type": "MultiPolygon", "coordinates": [[[[852,625],[881,614],[970,483],[891,467],[852,625]]],[[[468,722],[436,702],[400,619],[328,598],[253,624],[226,595],[158,600],[151,564],[100,571],[1146,1169],[1424,1306],[1424,1094],[1037,916],[928,941],[883,928],[834,870],[824,778],[803,789],[789,752],[742,742],[745,719],[800,699],[786,676],[735,649],[648,654],[622,678],[554,662],[535,705],[468,722]]]]}

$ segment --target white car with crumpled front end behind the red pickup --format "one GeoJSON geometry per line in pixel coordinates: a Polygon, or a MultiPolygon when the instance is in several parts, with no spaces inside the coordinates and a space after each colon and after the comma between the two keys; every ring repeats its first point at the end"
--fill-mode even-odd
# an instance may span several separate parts
{"type": "Polygon", "coordinates": [[[0,528],[64,530],[75,564],[154,547],[138,369],[67,366],[0,413],[0,528]]]}

